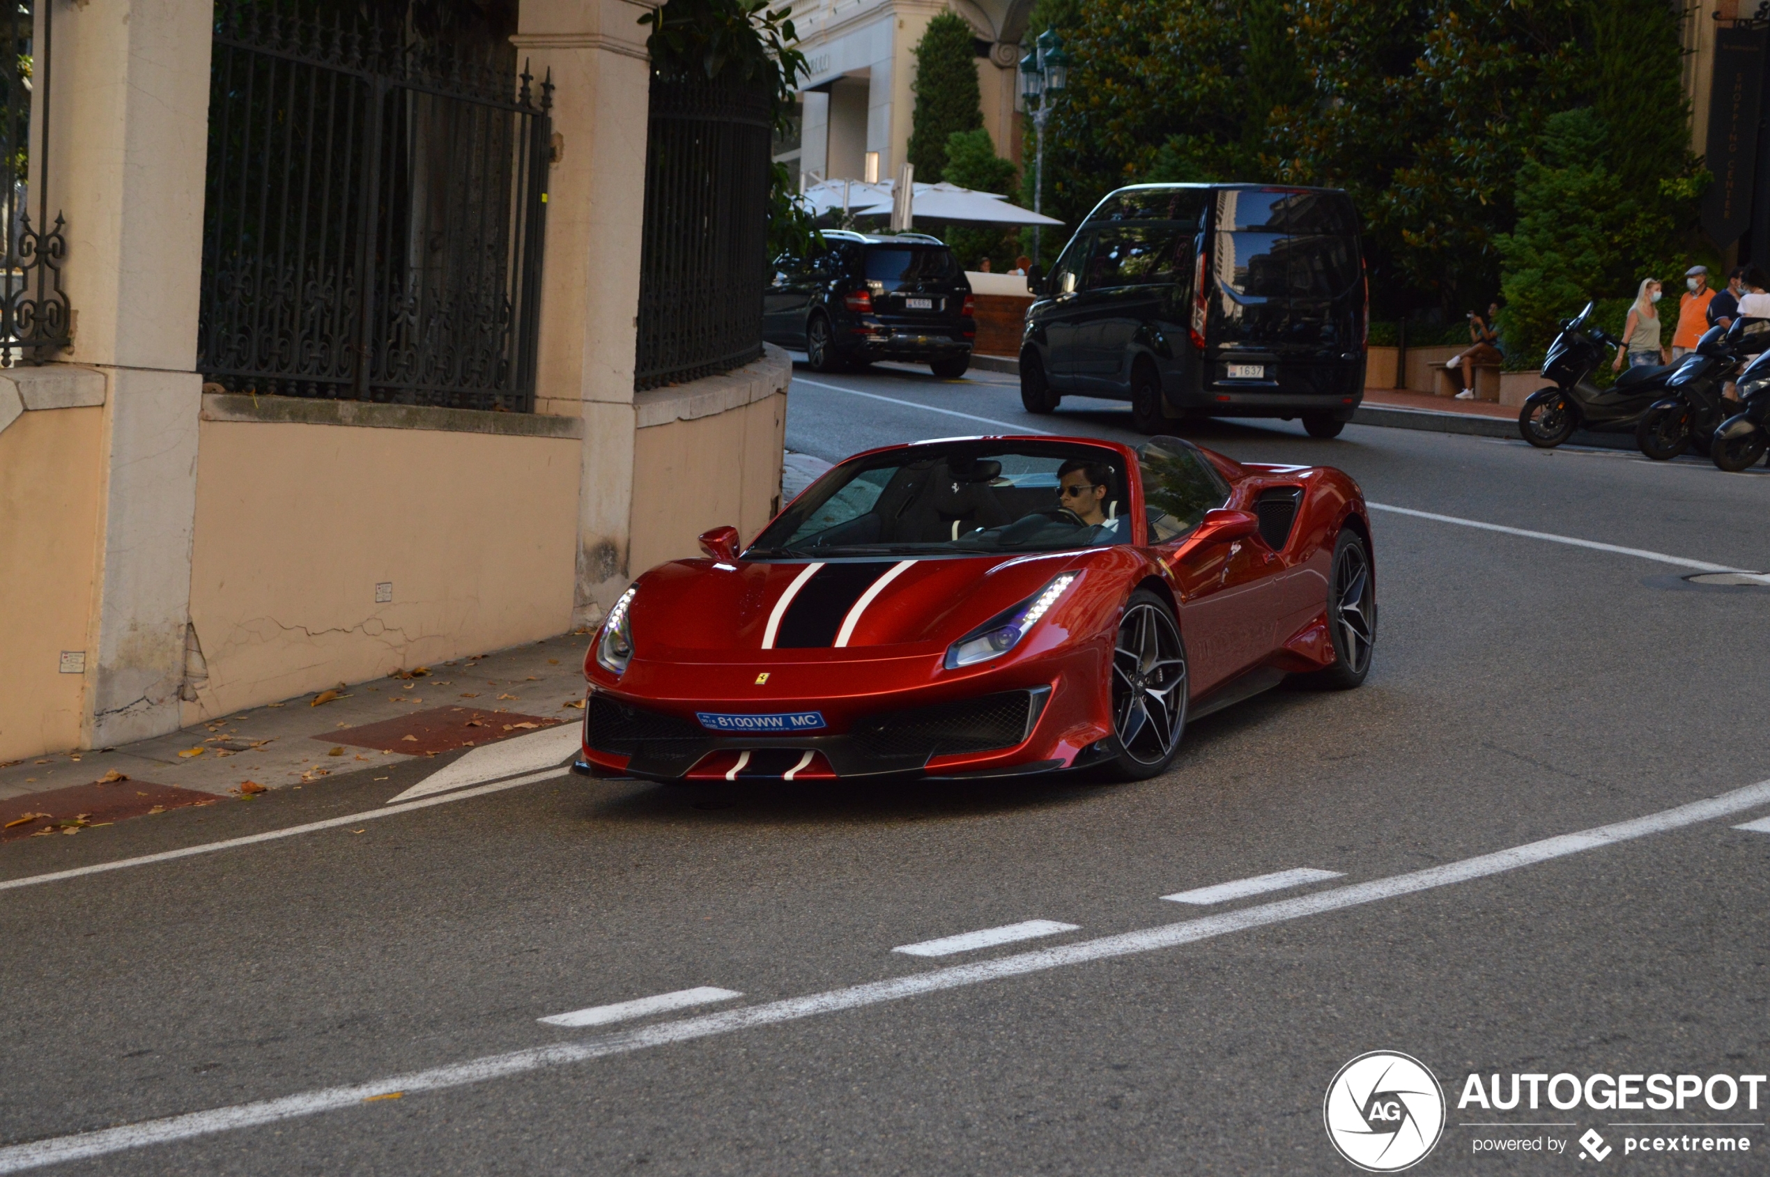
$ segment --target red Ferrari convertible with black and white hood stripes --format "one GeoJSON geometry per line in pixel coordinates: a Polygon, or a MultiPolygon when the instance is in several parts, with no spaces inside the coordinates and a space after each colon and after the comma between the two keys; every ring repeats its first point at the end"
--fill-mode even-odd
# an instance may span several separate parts
{"type": "Polygon", "coordinates": [[[1287,674],[1356,687],[1377,637],[1358,483],[1179,437],[871,450],[701,547],[596,632],[581,772],[1149,777],[1287,674]]]}

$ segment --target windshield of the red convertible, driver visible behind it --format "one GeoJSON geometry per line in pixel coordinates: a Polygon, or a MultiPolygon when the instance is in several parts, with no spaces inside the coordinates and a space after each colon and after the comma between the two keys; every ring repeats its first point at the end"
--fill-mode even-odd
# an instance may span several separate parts
{"type": "Polygon", "coordinates": [[[1129,543],[1129,501],[1124,460],[1113,450],[910,446],[827,473],[756,536],[745,558],[981,556],[1129,543]]]}

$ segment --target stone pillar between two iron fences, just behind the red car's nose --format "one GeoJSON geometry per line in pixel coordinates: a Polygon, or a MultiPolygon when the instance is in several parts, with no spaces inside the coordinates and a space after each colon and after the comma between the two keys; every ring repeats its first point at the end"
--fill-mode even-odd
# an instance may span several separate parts
{"type": "Polygon", "coordinates": [[[630,579],[634,329],[646,196],[650,0],[524,0],[512,39],[552,71],[536,411],[584,418],[577,623],[596,621],[630,579]]]}

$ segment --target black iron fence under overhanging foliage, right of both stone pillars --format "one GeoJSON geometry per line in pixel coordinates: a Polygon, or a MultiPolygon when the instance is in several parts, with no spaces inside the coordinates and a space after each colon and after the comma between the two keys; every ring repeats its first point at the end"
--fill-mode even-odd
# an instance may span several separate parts
{"type": "Polygon", "coordinates": [[[763,352],[770,110],[763,88],[651,78],[635,389],[763,352]]]}

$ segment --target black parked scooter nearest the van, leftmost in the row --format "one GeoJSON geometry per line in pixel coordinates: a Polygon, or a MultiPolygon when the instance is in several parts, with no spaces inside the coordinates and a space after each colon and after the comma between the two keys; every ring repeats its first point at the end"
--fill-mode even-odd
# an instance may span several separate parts
{"type": "Polygon", "coordinates": [[[1554,386],[1531,393],[1519,411],[1519,432],[1533,446],[1554,450],[1575,428],[1630,430],[1648,405],[1666,395],[1666,377],[1674,365],[1627,368],[1611,388],[1591,382],[1607,349],[1621,347],[1621,340],[1612,335],[1586,327],[1591,306],[1586,303],[1586,310],[1563,322],[1561,335],[1549,345],[1543,377],[1554,381],[1554,386]]]}

